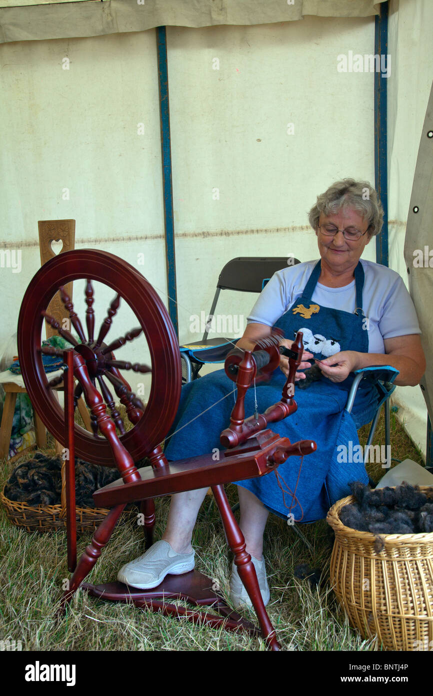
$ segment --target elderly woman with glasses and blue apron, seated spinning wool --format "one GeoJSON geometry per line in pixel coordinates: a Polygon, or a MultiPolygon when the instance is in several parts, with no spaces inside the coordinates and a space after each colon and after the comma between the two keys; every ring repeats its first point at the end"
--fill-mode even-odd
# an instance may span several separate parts
{"type": "MultiPolygon", "coordinates": [[[[302,331],[304,352],[297,380],[306,379],[311,360],[320,368],[318,381],[308,389],[296,390],[297,411],[270,425],[292,442],[315,440],[317,451],[305,458],[302,468],[299,461],[294,464],[293,457],[279,466],[285,494],[272,474],[238,484],[240,528],[265,603],[270,591],[262,553],[269,511],[304,522],[321,519],[329,505],[349,493],[351,481],[368,481],[363,464],[339,464],[336,457],[339,444],[357,442],[357,428],[371,420],[377,406],[375,388],[367,385],[359,388],[352,415],[344,410],[351,373],[370,365],[391,365],[400,372],[396,384],[414,386],[425,370],[414,305],[402,279],[389,268],[360,261],[366,245],[379,234],[382,220],[377,193],[368,182],[345,179],[318,196],[309,221],[316,232],[320,259],[272,276],[237,344],[252,349],[276,325],[287,337],[284,344],[291,345],[295,333],[302,331]]],[[[280,367],[270,382],[248,390],[247,413],[254,410],[255,400],[262,412],[279,400],[288,358],[281,356],[280,367]]],[[[193,457],[218,448],[220,432],[229,424],[233,407],[233,396],[224,397],[232,392],[233,383],[224,370],[183,387],[173,435],[165,449],[168,459],[193,457]]],[[[191,538],[205,494],[206,489],[202,489],[172,496],[161,541],[124,565],[118,579],[149,589],[169,573],[193,569],[191,538]]],[[[230,590],[235,606],[250,604],[234,564],[230,590]]]]}

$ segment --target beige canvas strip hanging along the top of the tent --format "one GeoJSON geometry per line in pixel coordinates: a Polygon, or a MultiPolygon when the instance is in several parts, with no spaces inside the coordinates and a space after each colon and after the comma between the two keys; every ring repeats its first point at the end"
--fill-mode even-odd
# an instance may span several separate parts
{"type": "Polygon", "coordinates": [[[145,31],[155,26],[271,24],[369,17],[384,0],[0,0],[0,43],[145,31]],[[141,1],[141,3],[140,3],[141,1]]]}

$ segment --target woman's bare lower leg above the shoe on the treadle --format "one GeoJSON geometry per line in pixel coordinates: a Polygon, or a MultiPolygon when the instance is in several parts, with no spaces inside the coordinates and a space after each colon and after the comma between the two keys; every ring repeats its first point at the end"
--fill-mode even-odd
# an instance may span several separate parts
{"type": "Polygon", "coordinates": [[[167,526],[161,538],[168,541],[177,553],[193,551],[191,538],[206,491],[207,488],[201,488],[196,491],[176,493],[172,496],[167,526]]]}

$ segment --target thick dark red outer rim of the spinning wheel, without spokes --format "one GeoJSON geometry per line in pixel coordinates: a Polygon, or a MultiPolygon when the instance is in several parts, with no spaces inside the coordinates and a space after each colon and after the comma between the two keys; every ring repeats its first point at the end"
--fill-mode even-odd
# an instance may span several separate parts
{"type": "MultiPolygon", "coordinates": [[[[181,358],[167,310],[147,280],[130,264],[106,251],[82,249],[61,253],[38,271],[28,285],[18,320],[18,354],[26,390],[49,432],[65,442],[64,411],[42,366],[41,331],[49,301],[62,285],[91,278],[120,294],[136,315],[152,359],[152,387],[138,423],[120,436],[134,461],[146,457],[165,438],[181,393],[181,358]]],[[[113,331],[113,329],[112,329],[113,331]]],[[[75,451],[92,464],[114,466],[108,442],[76,425],[75,451]]]]}

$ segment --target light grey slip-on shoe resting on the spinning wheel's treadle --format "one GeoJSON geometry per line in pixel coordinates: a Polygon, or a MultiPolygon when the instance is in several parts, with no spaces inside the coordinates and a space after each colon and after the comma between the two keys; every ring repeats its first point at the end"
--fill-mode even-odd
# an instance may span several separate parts
{"type": "Polygon", "coordinates": [[[138,590],[151,590],[162,583],[166,575],[183,575],[195,567],[195,551],[177,553],[168,541],[156,541],[146,553],[124,564],[117,580],[138,590]]]}

